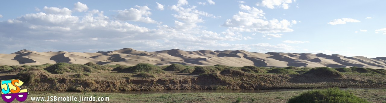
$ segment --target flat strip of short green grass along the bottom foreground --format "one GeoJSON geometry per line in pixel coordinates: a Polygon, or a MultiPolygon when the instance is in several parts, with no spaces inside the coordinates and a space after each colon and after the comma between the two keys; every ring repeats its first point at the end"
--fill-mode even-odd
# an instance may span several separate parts
{"type": "MultiPolygon", "coordinates": [[[[364,98],[372,103],[385,103],[386,90],[344,90],[359,98],[364,98]]],[[[30,97],[47,96],[93,96],[109,97],[111,103],[286,103],[292,96],[299,95],[302,91],[278,91],[267,93],[44,93],[30,92],[27,102],[32,102],[30,97]],[[39,94],[37,94],[39,93],[39,94]]],[[[78,102],[72,102],[78,103],[78,102]]],[[[98,103],[95,102],[95,103],[98,103]]]]}

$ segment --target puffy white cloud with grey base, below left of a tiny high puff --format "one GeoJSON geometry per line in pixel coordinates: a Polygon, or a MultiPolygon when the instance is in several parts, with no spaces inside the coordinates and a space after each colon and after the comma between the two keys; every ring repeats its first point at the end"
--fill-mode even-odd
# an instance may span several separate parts
{"type": "Polygon", "coordinates": [[[147,6],[135,5],[135,8],[130,8],[129,10],[117,10],[118,15],[115,17],[115,19],[120,21],[130,20],[136,22],[157,23],[155,20],[148,17],[151,15],[149,10],[151,9],[147,6]]]}

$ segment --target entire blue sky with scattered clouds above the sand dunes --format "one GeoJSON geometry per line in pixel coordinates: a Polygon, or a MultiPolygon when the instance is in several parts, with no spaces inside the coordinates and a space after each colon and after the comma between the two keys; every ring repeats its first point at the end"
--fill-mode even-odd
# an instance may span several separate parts
{"type": "Polygon", "coordinates": [[[7,0],[0,53],[247,50],[386,57],[384,0],[7,0]]]}

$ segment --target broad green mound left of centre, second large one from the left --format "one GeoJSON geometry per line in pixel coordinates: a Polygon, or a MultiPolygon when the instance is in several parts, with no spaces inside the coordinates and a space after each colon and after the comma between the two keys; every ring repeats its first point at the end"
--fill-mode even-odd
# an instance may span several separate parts
{"type": "Polygon", "coordinates": [[[159,68],[158,66],[151,65],[149,63],[138,63],[135,66],[131,66],[129,68],[122,69],[118,72],[122,73],[157,73],[157,74],[164,74],[165,71],[159,68]]]}

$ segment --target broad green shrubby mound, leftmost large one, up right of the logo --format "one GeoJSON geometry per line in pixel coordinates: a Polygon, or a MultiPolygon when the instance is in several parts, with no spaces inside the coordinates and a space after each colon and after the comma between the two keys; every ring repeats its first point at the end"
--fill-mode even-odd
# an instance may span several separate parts
{"type": "Polygon", "coordinates": [[[52,66],[45,68],[52,74],[64,74],[64,73],[78,73],[78,72],[97,72],[95,68],[81,64],[69,64],[69,63],[56,63],[52,66]]]}

